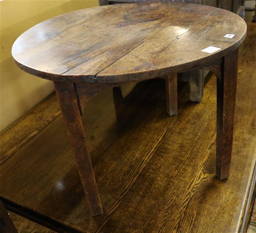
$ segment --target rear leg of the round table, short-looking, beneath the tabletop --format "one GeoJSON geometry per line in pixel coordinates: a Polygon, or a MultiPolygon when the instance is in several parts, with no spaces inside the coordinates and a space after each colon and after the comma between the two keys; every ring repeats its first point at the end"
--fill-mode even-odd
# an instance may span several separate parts
{"type": "Polygon", "coordinates": [[[167,113],[170,116],[176,115],[178,112],[178,88],[177,88],[177,74],[170,74],[165,78],[166,83],[166,104],[167,113]]]}

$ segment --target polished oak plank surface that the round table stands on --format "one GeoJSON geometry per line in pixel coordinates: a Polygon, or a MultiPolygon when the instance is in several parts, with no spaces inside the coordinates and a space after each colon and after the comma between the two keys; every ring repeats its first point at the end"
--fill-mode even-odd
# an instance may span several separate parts
{"type": "MultiPolygon", "coordinates": [[[[238,232],[249,218],[243,213],[256,161],[255,38],[256,26],[248,24],[229,180],[214,174],[216,77],[209,74],[200,104],[179,84],[174,117],[165,113],[161,79],[114,95],[107,89],[89,101],[83,120],[103,215],[89,214],[55,95],[3,136],[0,196],[9,209],[45,216],[42,223],[54,220],[49,227],[63,232],[238,232]]],[[[22,233],[54,232],[16,213],[11,218],[22,233]]]]}

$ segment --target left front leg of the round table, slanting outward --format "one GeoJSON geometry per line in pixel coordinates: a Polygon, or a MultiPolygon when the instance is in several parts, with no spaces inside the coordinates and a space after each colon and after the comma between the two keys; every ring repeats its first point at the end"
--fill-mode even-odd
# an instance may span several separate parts
{"type": "Polygon", "coordinates": [[[54,85],[91,213],[101,214],[101,200],[86,145],[74,84],[54,82],[54,85]]]}

